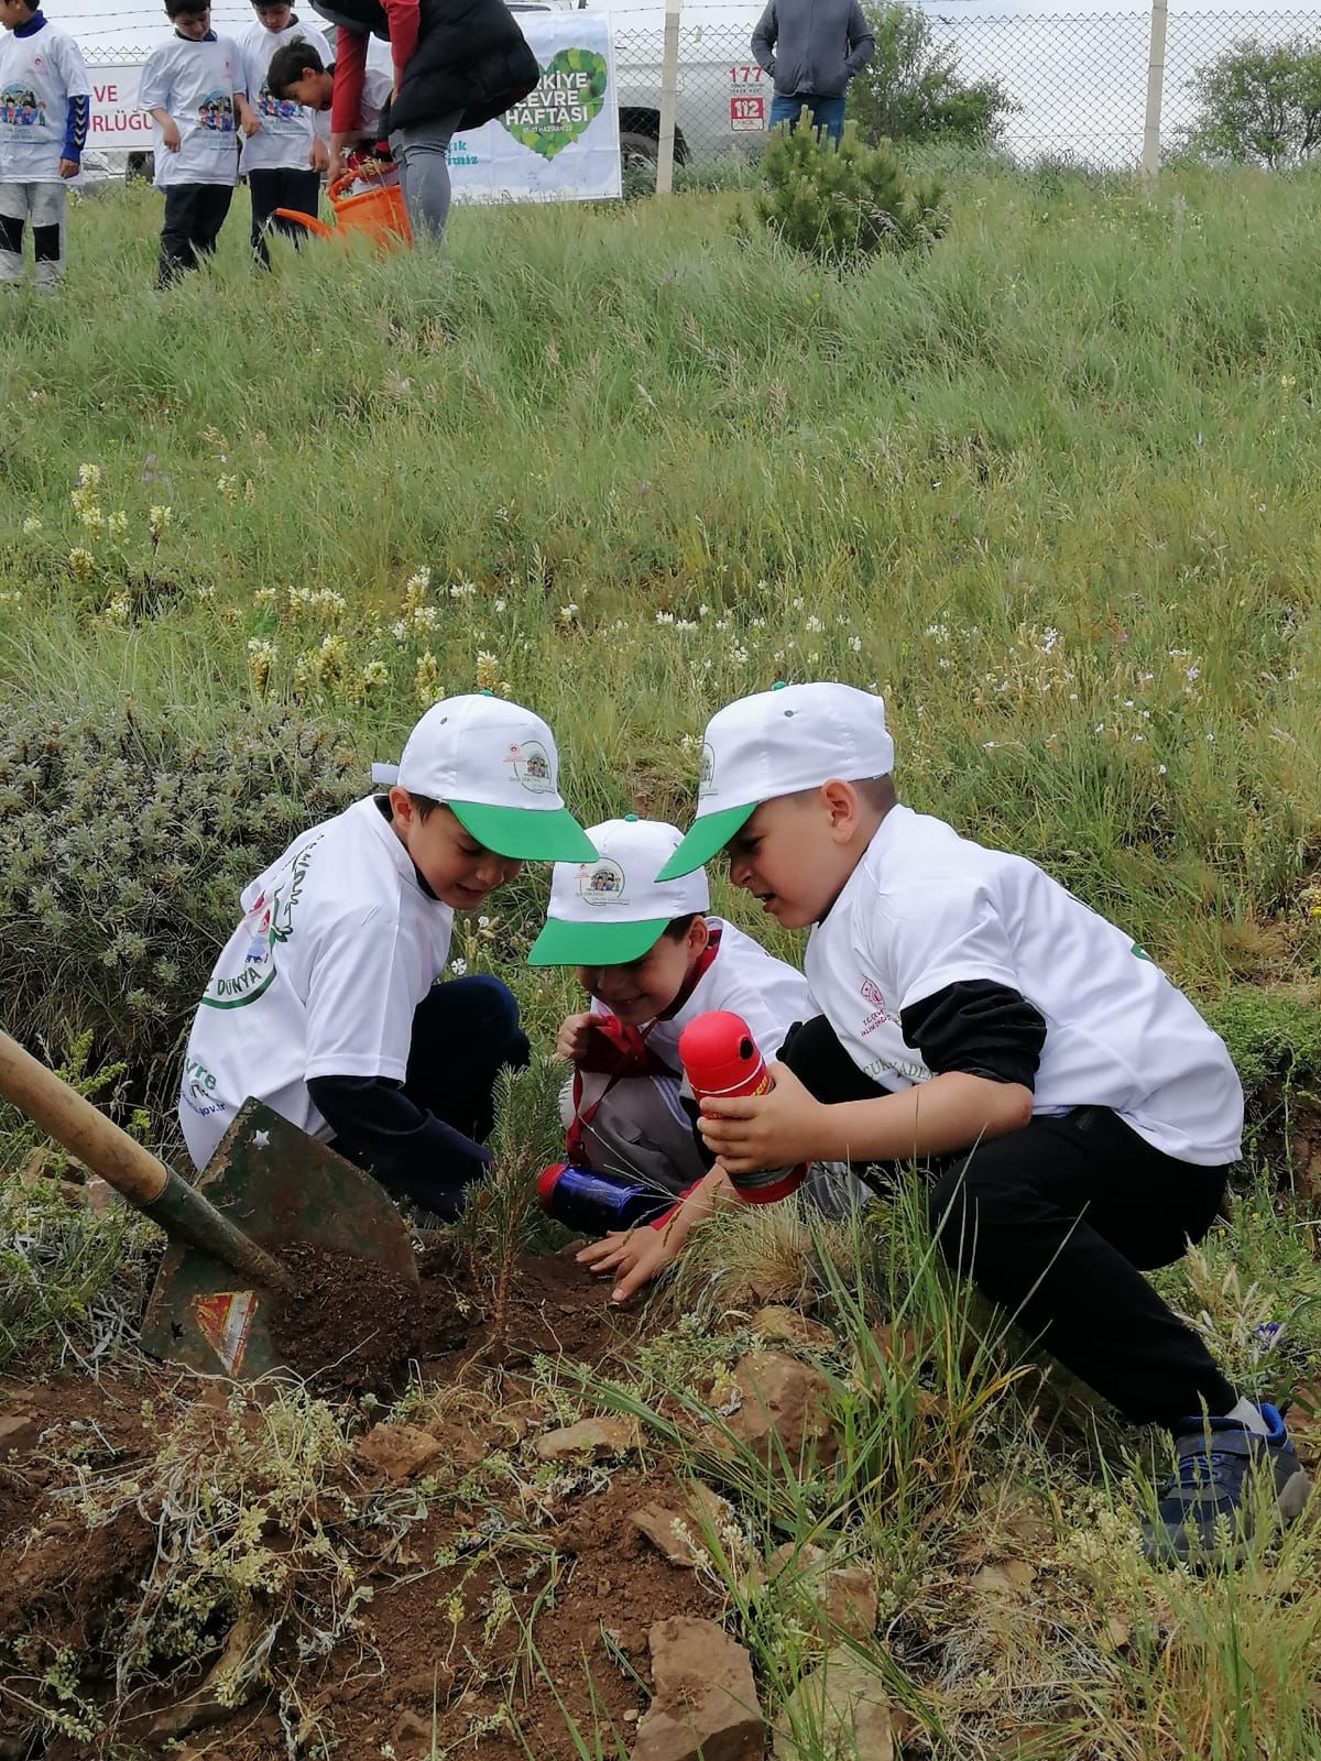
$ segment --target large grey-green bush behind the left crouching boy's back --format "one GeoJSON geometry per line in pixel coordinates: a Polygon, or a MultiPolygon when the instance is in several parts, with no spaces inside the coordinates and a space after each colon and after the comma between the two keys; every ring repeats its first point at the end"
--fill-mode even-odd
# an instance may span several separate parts
{"type": "Polygon", "coordinates": [[[333,733],[243,704],[206,743],[132,704],[62,722],[0,701],[0,995],[5,1027],[164,1099],[238,896],[305,826],[361,792],[333,733]]]}

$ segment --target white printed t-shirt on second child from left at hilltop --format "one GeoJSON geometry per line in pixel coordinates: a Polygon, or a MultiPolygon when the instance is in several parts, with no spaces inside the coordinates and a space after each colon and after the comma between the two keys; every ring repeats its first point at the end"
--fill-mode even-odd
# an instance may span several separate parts
{"type": "Polygon", "coordinates": [[[155,183],[238,183],[238,118],[234,93],[243,92],[243,56],[232,37],[188,42],[167,37],[143,65],[137,104],[164,109],[180,130],[178,153],[167,153],[155,125],[155,183]]]}

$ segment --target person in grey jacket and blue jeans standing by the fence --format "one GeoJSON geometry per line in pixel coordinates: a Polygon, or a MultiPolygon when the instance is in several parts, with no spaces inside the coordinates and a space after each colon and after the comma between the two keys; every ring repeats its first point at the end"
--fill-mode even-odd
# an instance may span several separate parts
{"type": "Polygon", "coordinates": [[[838,146],[849,81],[872,60],[875,39],[858,0],[770,0],[752,32],[752,55],[775,81],[771,129],[812,127],[838,146]]]}

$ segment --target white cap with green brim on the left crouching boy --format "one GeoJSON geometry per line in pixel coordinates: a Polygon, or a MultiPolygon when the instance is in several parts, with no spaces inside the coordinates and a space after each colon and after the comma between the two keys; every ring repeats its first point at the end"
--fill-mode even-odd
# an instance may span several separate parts
{"type": "Polygon", "coordinates": [[[590,861],[587,833],[560,799],[555,736],[539,715],[490,692],[442,697],[377,782],[442,801],[477,844],[518,861],[590,861]]]}

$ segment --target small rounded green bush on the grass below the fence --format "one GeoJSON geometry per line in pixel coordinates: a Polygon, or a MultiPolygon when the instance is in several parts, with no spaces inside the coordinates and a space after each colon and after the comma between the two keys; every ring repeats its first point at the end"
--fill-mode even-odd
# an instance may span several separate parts
{"type": "Polygon", "coordinates": [[[911,181],[889,143],[867,146],[852,123],[838,146],[808,127],[773,129],[761,171],[761,220],[786,245],[837,268],[925,250],[948,224],[939,178],[911,181]]]}

